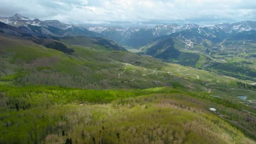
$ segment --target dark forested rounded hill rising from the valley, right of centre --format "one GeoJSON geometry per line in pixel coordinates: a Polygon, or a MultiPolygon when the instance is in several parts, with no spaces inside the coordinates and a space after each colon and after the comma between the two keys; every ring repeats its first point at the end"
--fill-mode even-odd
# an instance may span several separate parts
{"type": "MultiPolygon", "coordinates": [[[[168,62],[189,65],[191,67],[201,68],[208,63],[209,58],[203,56],[197,51],[183,50],[185,43],[177,38],[156,39],[141,47],[141,51],[148,55],[164,59],[168,62]]],[[[196,46],[198,47],[198,46],[196,46]]]]}

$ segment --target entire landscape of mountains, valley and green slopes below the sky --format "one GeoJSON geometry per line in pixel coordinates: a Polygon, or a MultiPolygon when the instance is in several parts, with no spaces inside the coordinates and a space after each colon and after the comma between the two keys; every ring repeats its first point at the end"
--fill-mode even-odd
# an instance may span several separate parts
{"type": "Polygon", "coordinates": [[[0,21],[0,143],[255,143],[254,22],[0,21]]]}

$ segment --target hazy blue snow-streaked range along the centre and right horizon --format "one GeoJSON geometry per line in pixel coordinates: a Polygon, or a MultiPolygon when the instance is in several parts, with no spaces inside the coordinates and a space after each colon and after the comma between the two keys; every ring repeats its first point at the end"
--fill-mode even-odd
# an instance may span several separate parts
{"type": "Polygon", "coordinates": [[[199,37],[216,38],[226,37],[239,32],[247,32],[256,29],[256,22],[242,21],[236,23],[219,23],[214,26],[200,26],[194,23],[185,24],[183,26],[159,25],[153,28],[150,27],[87,27],[90,31],[101,33],[104,37],[117,41],[120,44],[127,45],[133,48],[141,47],[148,43],[148,41],[160,37],[162,35],[179,35],[182,33],[192,32],[199,37]]]}

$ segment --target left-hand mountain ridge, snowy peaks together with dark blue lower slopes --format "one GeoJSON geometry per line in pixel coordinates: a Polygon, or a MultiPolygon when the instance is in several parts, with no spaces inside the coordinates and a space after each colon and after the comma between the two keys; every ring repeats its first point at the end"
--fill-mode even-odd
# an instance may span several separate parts
{"type": "MultiPolygon", "coordinates": [[[[100,37],[101,34],[89,31],[83,27],[77,27],[74,25],[67,25],[57,20],[45,20],[39,19],[30,20],[27,17],[15,14],[12,17],[0,17],[0,22],[7,25],[14,26],[19,29],[20,33],[31,34],[37,36],[75,36],[83,35],[89,37],[100,37]]],[[[3,24],[2,24],[3,25],[3,24]]],[[[10,28],[10,27],[9,27],[10,28]]],[[[9,33],[10,30],[1,28],[5,33],[9,33]]]]}

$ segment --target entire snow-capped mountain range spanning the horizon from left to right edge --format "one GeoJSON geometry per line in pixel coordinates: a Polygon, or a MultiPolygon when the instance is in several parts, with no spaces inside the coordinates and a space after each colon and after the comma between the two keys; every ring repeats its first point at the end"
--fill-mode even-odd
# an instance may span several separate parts
{"type": "Polygon", "coordinates": [[[57,20],[30,20],[15,14],[11,17],[0,17],[0,22],[17,27],[22,33],[38,36],[89,36],[104,37],[114,40],[121,45],[139,49],[150,40],[165,35],[184,37],[189,41],[200,41],[202,37],[222,40],[232,34],[256,30],[255,21],[241,21],[236,23],[219,23],[214,26],[196,25],[194,23],[183,26],[159,25],[155,27],[119,27],[119,26],[81,26],[68,25],[57,20]],[[193,35],[193,37],[191,37],[193,35]],[[188,37],[189,36],[189,37],[188,37]]]}

